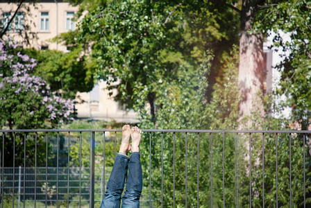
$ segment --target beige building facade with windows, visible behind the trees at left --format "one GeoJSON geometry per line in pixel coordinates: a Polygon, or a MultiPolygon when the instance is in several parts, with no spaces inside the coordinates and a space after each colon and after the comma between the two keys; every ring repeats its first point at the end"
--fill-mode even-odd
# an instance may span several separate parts
{"type": "MultiPolygon", "coordinates": [[[[78,12],[78,7],[60,0],[36,1],[36,3],[26,1],[15,14],[18,6],[18,3],[0,1],[2,30],[15,15],[8,25],[6,36],[10,36],[18,42],[23,42],[24,37],[21,34],[27,31],[29,37],[27,46],[38,50],[69,51],[69,46],[51,42],[51,40],[60,33],[66,33],[76,28],[74,15],[78,12]]],[[[108,95],[106,87],[106,83],[99,80],[91,92],[78,92],[76,94],[79,100],[84,101],[76,105],[78,118],[115,120],[122,123],[139,122],[136,119],[137,114],[133,110],[125,110],[123,106],[114,101],[113,95],[108,95]]],[[[114,92],[114,94],[116,93],[114,92]]]]}

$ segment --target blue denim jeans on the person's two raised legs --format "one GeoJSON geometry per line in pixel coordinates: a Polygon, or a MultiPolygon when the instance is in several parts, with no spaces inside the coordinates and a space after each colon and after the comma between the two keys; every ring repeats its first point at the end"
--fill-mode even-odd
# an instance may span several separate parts
{"type": "Polygon", "coordinates": [[[140,194],[142,193],[142,164],[140,164],[140,153],[132,153],[130,158],[121,154],[117,155],[107,183],[105,198],[101,201],[101,208],[120,207],[125,180],[126,191],[122,197],[121,207],[140,207],[140,194]]]}

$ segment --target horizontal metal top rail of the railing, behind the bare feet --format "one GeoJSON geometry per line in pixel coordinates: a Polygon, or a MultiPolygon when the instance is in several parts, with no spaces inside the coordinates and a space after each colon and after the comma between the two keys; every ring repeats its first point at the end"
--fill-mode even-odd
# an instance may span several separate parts
{"type": "MultiPolygon", "coordinates": [[[[121,132],[121,129],[17,129],[0,132],[121,132]]],[[[190,130],[190,129],[142,129],[142,132],[187,132],[187,133],[296,133],[311,134],[311,130],[190,130]]]]}

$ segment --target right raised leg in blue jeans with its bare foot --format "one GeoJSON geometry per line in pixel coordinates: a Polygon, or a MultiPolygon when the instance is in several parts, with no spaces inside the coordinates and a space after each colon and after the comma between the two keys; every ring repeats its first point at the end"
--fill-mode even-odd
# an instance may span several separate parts
{"type": "Polygon", "coordinates": [[[140,207],[140,195],[142,193],[142,164],[140,164],[140,139],[142,130],[132,128],[132,151],[128,163],[128,178],[126,191],[122,197],[122,208],[140,207]]]}

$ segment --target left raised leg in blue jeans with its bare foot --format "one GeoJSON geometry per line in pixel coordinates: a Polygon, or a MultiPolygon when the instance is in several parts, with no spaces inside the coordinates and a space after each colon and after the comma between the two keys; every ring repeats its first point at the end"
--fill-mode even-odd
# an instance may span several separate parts
{"type": "Polygon", "coordinates": [[[121,146],[117,158],[115,159],[112,172],[110,173],[105,198],[101,201],[101,208],[120,207],[121,194],[124,189],[124,182],[128,171],[128,162],[130,160],[127,153],[131,150],[131,145],[129,143],[131,127],[129,125],[124,125],[122,130],[123,135],[121,146]]]}

